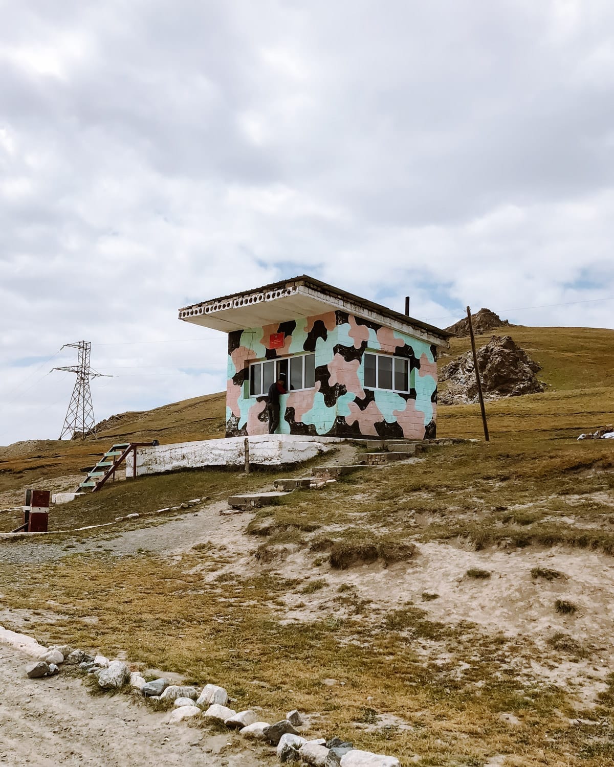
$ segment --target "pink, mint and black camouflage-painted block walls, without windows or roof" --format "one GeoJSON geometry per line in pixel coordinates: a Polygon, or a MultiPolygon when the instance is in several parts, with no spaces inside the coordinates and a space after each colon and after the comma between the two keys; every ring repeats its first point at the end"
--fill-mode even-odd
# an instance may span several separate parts
{"type": "Polygon", "coordinates": [[[315,387],[282,395],[279,433],[435,436],[436,347],[343,311],[229,334],[226,436],[268,432],[266,397],[249,397],[250,362],[305,352],[315,354],[315,387]],[[282,347],[270,348],[273,334],[283,334],[282,347]],[[365,389],[365,351],[408,358],[410,392],[365,389]]]}

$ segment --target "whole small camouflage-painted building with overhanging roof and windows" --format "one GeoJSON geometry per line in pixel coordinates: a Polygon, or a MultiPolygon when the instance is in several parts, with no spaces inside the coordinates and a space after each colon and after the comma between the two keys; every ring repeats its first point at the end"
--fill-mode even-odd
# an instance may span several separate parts
{"type": "Polygon", "coordinates": [[[266,393],[280,376],[278,432],[434,437],[437,348],[449,333],[302,277],[179,311],[228,333],[226,436],[268,433],[266,393]]]}

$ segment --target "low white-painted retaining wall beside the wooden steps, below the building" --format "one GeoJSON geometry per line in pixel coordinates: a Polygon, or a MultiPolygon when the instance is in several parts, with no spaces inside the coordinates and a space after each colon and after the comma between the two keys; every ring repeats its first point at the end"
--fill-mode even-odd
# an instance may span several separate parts
{"type": "MultiPolygon", "coordinates": [[[[312,437],[297,434],[261,434],[249,437],[249,463],[259,466],[279,466],[282,463],[302,463],[325,453],[343,442],[337,437],[312,437]]],[[[245,437],[203,439],[137,449],[137,476],[160,474],[178,469],[200,469],[205,466],[243,466],[245,437]]],[[[134,475],[132,456],[126,461],[126,476],[134,475]]]]}

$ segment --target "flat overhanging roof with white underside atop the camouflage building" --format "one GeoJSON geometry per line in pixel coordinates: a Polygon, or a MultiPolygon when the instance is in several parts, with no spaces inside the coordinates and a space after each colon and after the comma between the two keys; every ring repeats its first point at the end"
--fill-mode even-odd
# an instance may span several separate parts
{"type": "Polygon", "coordinates": [[[335,310],[347,311],[437,346],[447,346],[447,339],[454,335],[308,275],[191,304],[179,310],[179,318],[230,333],[335,310]]]}

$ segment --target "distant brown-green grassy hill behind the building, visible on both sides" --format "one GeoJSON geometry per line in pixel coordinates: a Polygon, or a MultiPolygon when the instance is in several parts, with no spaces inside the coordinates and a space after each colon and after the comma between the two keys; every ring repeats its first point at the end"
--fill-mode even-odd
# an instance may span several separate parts
{"type": "MultiPolygon", "coordinates": [[[[510,334],[540,363],[539,377],[548,389],[488,403],[491,439],[570,438],[614,420],[614,331],[506,327],[494,332],[510,334]]],[[[477,344],[489,338],[490,334],[478,336],[477,344]]],[[[469,347],[468,338],[453,338],[440,364],[469,347]]],[[[165,444],[223,436],[224,410],[225,394],[208,394],[112,416],[101,423],[97,440],[33,440],[0,448],[0,493],[45,479],[76,476],[114,442],[158,439],[165,444]]],[[[482,436],[477,405],[440,406],[437,426],[439,436],[482,436]]]]}

